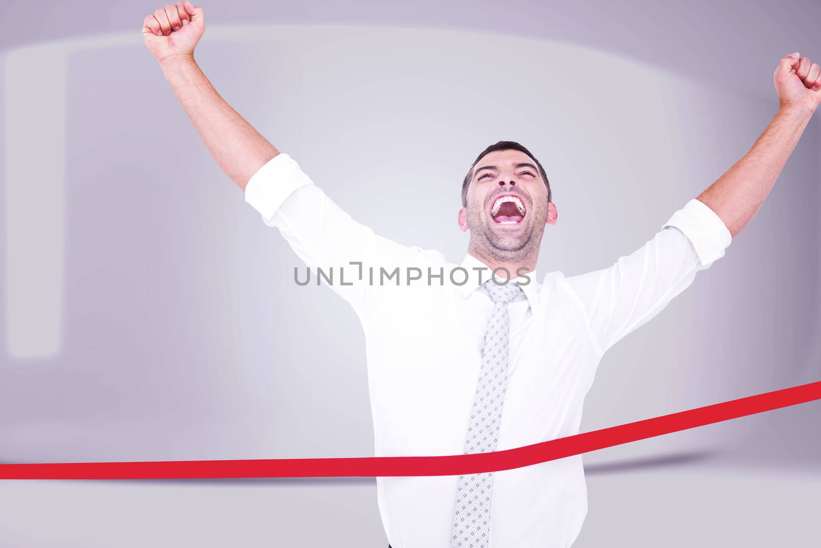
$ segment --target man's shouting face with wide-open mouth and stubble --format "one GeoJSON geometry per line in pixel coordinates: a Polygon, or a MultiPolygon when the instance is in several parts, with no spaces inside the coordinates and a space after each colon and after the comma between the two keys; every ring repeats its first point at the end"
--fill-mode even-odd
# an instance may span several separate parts
{"type": "Polygon", "coordinates": [[[497,150],[476,163],[459,210],[459,226],[470,230],[470,247],[499,260],[538,253],[544,225],[555,224],[556,206],[530,156],[497,150]]]}

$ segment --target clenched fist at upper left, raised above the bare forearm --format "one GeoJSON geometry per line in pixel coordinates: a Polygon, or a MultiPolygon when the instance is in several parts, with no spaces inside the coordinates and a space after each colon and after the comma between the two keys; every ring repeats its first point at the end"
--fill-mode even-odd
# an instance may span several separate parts
{"type": "Polygon", "coordinates": [[[204,31],[203,8],[188,0],[166,4],[143,21],[145,46],[158,62],[174,55],[193,56],[204,31]]]}

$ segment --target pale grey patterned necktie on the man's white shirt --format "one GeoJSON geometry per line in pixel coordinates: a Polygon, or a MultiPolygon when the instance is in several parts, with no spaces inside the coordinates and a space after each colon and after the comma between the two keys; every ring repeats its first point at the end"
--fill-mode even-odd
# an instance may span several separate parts
{"type": "MultiPolygon", "coordinates": [[[[493,298],[493,311],[484,333],[482,366],[473,408],[470,411],[465,454],[496,450],[502,405],[507,390],[508,342],[510,316],[507,305],[521,291],[513,282],[497,285],[493,279],[484,283],[493,298]]],[[[468,474],[456,484],[456,508],[453,511],[451,548],[482,548],[490,542],[490,499],[493,472],[468,474]]]]}

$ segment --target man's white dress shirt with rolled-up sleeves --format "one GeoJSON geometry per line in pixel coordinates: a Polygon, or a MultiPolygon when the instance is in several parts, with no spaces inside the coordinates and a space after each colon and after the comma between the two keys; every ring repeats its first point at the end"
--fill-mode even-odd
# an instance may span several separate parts
{"type": "MultiPolygon", "coordinates": [[[[467,255],[380,237],[342,211],[288,154],[251,177],[245,201],[279,228],[312,276],[333,267],[333,292],[353,306],[365,332],[374,454],[463,454],[493,302],[490,271],[467,255]],[[361,261],[351,265],[351,261],[361,261]],[[459,285],[464,274],[469,281],[459,285]],[[409,267],[421,270],[422,279],[409,267]],[[372,268],[372,269],[371,269],[372,268]],[[400,284],[380,284],[399,268],[400,284]],[[443,277],[431,278],[443,271],[443,277]],[[344,271],[342,285],[340,269],[344,271]],[[360,272],[362,279],[358,279],[360,272]],[[374,273],[370,283],[369,272],[374,273]],[[451,279],[451,274],[453,279],[451,279]]],[[[517,279],[510,304],[510,361],[498,451],[579,432],[582,403],[604,352],[662,311],[696,272],[724,255],[731,234],[690,200],[653,239],[606,269],[517,279]]],[[[516,274],[514,274],[515,276],[516,274]]],[[[499,283],[505,274],[498,274],[499,283]]],[[[316,283],[312,278],[311,283],[316,283]]],[[[447,548],[458,476],[377,477],[379,513],[392,548],[447,548]]],[[[587,513],[581,456],[494,472],[490,546],[565,548],[587,513]]]]}

